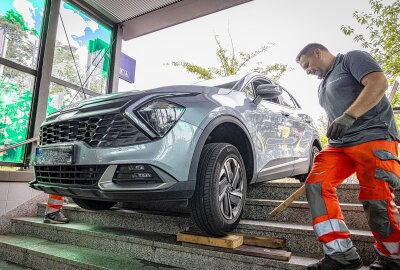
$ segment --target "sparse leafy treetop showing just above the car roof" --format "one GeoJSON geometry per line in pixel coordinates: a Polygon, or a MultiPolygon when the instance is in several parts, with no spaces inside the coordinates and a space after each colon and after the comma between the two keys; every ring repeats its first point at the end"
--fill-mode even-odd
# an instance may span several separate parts
{"type": "MultiPolygon", "coordinates": [[[[215,36],[215,42],[217,45],[216,54],[220,64],[219,67],[201,67],[188,61],[172,61],[167,63],[167,65],[183,67],[187,72],[195,74],[197,78],[201,80],[208,80],[215,77],[225,77],[237,74],[239,71],[248,66],[257,56],[266,52],[271,46],[274,45],[273,43],[269,43],[268,45],[264,45],[258,50],[250,53],[237,53],[232,42],[232,37],[230,35],[229,37],[231,41],[230,52],[228,52],[228,50],[221,44],[219,37],[215,36]]],[[[288,70],[291,70],[291,68],[289,68],[286,64],[276,63],[272,65],[264,65],[262,62],[256,62],[256,67],[251,69],[251,71],[265,74],[275,81],[278,81],[288,70]]]]}

